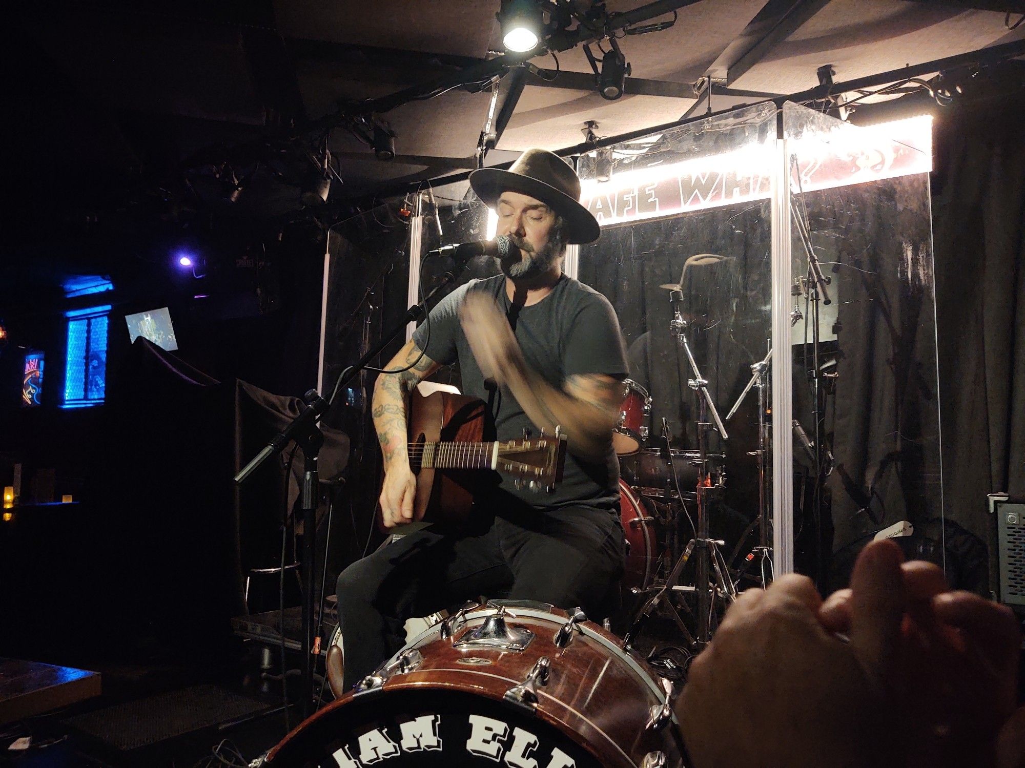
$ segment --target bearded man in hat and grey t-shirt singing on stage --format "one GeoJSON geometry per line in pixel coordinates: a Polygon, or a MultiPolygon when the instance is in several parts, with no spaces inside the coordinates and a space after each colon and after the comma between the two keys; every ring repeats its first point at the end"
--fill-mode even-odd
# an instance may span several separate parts
{"type": "Polygon", "coordinates": [[[598,240],[598,222],[578,202],[573,169],[542,150],[528,150],[508,171],[475,171],[469,181],[516,248],[501,260],[502,274],[443,299],[429,333],[422,324],[386,366],[394,373],[377,378],[383,524],[413,517],[410,394],[456,359],[463,393],[487,402],[497,439],[561,428],[563,481],[545,493],[502,478],[487,498],[475,498],[471,529],[428,526],[348,566],[338,578],[346,689],[402,646],[410,616],[487,595],[581,606],[601,621],[618,599],[624,539],[612,429],[625,353],[612,305],[562,267],[567,244],[598,240]]]}

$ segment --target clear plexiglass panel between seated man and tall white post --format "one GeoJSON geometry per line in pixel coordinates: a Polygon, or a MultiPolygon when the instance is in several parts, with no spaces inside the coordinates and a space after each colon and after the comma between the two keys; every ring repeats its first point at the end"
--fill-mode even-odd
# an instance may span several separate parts
{"type": "MultiPolygon", "coordinates": [[[[690,386],[698,373],[725,429],[708,429],[705,446],[710,482],[723,484],[706,510],[711,538],[725,542],[720,564],[741,588],[771,575],[771,554],[760,549],[772,540],[770,456],[758,456],[760,435],[768,437],[771,428],[769,409],[760,408],[768,375],[748,385],[751,367],[770,349],[776,114],[774,104],[758,104],[580,158],[582,202],[602,237],[581,247],[579,280],[612,302],[631,379],[651,401],[649,414],[637,415],[629,398],[624,407],[647,437],[620,466],[624,482],[659,520],[652,531],[656,577],[668,575],[700,527],[697,422],[716,420],[707,403],[701,416],[703,397],[690,386]],[[763,499],[767,518],[760,526],[763,499]]],[[[690,569],[678,581],[698,582],[690,569]]],[[[693,606],[679,613],[688,610],[693,606]]],[[[692,620],[685,624],[699,632],[700,622],[692,620]]]]}

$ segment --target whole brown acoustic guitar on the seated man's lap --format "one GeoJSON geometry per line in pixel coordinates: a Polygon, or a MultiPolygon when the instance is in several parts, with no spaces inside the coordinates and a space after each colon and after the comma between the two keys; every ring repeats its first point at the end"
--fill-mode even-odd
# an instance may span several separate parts
{"type": "Polygon", "coordinates": [[[495,440],[484,400],[450,392],[422,395],[414,390],[409,409],[409,466],[416,475],[413,522],[392,532],[430,523],[459,527],[469,517],[474,497],[494,487],[496,473],[536,490],[563,479],[566,436],[525,435],[495,440]]]}

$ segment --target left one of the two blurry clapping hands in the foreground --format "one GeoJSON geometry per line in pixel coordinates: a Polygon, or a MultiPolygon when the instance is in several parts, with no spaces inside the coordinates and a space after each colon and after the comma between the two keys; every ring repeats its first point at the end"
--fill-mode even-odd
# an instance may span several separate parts
{"type": "Polygon", "coordinates": [[[877,684],[900,629],[900,561],[875,554],[859,575],[850,643],[820,624],[821,599],[805,577],[748,590],[730,607],[676,705],[694,765],[900,765],[877,684]]]}

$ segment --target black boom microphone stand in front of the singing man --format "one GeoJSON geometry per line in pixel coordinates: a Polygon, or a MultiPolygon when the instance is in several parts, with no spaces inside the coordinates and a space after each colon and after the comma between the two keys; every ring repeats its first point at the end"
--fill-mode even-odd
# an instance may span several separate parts
{"type": "MultiPolygon", "coordinates": [[[[429,253],[425,254],[425,256],[429,255],[429,253]]],[[[320,452],[321,445],[324,444],[324,433],[320,431],[320,427],[317,426],[317,422],[323,418],[325,413],[327,413],[328,409],[334,402],[334,398],[337,396],[341,387],[353,381],[353,379],[355,379],[360,372],[366,368],[370,360],[377,356],[377,354],[379,354],[384,347],[391,344],[392,341],[405,330],[408,324],[415,323],[420,319],[426,313],[426,306],[430,299],[434,298],[439,291],[452,283],[455,283],[455,274],[452,271],[447,271],[438,278],[434,288],[432,288],[430,292],[423,297],[423,300],[406,310],[406,314],[401,323],[397,323],[384,334],[382,334],[381,339],[377,344],[367,350],[367,352],[359,360],[344,369],[338,375],[338,380],[335,382],[330,400],[325,400],[321,397],[316,389],[311,389],[302,395],[302,404],[299,406],[299,415],[296,416],[281,433],[275,435],[275,437],[263,447],[263,450],[253,457],[252,461],[250,461],[237,475],[235,475],[235,482],[241,485],[269,459],[280,454],[290,441],[294,440],[299,447],[302,449],[302,584],[304,589],[301,609],[302,679],[300,684],[300,709],[303,719],[313,714],[314,654],[320,653],[319,638],[317,638],[316,642],[314,639],[314,568],[317,555],[317,538],[315,532],[317,526],[317,497],[319,486],[319,478],[317,475],[317,456],[320,452]]],[[[284,634],[284,627],[281,627],[280,631],[284,634]]],[[[284,672],[285,671],[282,670],[282,674],[284,674],[284,672]]]]}

